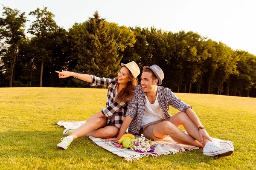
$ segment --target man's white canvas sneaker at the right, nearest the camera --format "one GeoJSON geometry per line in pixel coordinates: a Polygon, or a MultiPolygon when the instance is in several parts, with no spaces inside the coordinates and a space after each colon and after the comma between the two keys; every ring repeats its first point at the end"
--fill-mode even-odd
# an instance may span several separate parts
{"type": "Polygon", "coordinates": [[[203,154],[207,156],[229,156],[233,151],[231,147],[220,147],[214,142],[208,142],[204,146],[203,154]]]}

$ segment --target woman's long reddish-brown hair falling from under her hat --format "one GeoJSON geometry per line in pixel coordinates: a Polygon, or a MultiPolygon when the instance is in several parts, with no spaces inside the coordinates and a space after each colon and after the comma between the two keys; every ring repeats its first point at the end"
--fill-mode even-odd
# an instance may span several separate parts
{"type": "MultiPolygon", "coordinates": [[[[123,67],[126,66],[124,65],[123,67]]],[[[128,81],[126,88],[122,88],[122,90],[118,93],[116,97],[116,101],[118,102],[125,102],[125,100],[130,100],[132,95],[134,94],[134,88],[138,85],[138,79],[131,74],[131,71],[129,69],[128,72],[128,77],[129,79],[131,79],[131,81],[128,81]]],[[[116,77],[116,80],[118,80],[118,77],[116,77]]],[[[119,83],[117,81],[116,84],[118,87],[119,83]]]]}

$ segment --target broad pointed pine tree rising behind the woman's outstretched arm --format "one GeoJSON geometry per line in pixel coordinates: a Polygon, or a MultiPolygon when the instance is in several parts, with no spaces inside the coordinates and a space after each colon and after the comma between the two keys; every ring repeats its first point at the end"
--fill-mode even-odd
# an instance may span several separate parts
{"type": "MultiPolygon", "coordinates": [[[[105,19],[100,18],[98,11],[85,22],[83,32],[80,38],[78,65],[74,71],[97,77],[116,77],[122,57],[118,56],[114,35],[110,34],[105,19]]],[[[87,86],[85,82],[74,81],[79,87],[87,86]]]]}

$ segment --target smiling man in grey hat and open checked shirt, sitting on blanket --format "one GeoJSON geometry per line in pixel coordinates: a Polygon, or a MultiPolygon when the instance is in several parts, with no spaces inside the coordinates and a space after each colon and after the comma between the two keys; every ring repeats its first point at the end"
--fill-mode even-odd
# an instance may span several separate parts
{"type": "Polygon", "coordinates": [[[118,136],[107,141],[119,140],[129,127],[129,133],[143,134],[152,141],[170,136],[181,144],[204,147],[203,154],[207,156],[232,154],[232,143],[213,143],[192,107],[178,99],[169,88],[158,86],[162,84],[163,78],[163,71],[157,65],[143,67],[141,85],[134,90],[118,136]],[[169,105],[180,112],[171,116],[168,113],[169,105]],[[184,126],[188,134],[178,129],[180,125],[184,126]]]}

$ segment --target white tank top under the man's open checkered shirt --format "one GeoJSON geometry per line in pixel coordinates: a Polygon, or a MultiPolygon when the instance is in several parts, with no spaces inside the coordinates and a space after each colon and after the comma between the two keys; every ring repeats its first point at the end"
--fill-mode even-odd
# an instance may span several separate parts
{"type": "MultiPolygon", "coordinates": [[[[157,97],[158,97],[158,92],[157,92],[157,97]]],[[[160,114],[161,108],[160,108],[157,97],[155,102],[151,104],[148,101],[147,95],[145,94],[146,105],[145,105],[145,112],[142,118],[141,126],[144,126],[144,125],[147,125],[148,123],[162,119],[160,114]]]]}

